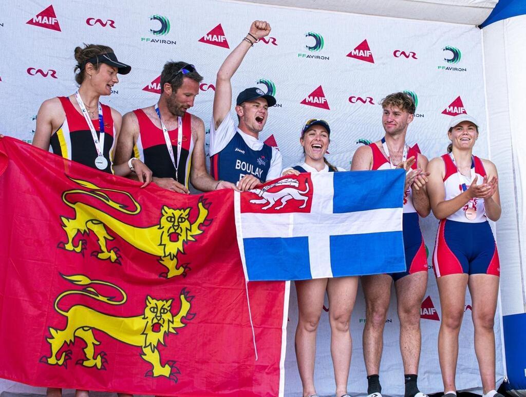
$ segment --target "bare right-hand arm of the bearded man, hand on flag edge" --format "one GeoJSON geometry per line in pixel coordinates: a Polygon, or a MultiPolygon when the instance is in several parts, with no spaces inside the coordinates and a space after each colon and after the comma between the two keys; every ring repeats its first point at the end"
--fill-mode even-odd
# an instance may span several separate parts
{"type": "Polygon", "coordinates": [[[202,192],[210,192],[216,189],[235,189],[233,183],[216,181],[206,172],[205,165],[205,124],[203,120],[192,116],[192,135],[195,137],[194,151],[192,153],[192,164],[190,169],[190,182],[202,192]]]}

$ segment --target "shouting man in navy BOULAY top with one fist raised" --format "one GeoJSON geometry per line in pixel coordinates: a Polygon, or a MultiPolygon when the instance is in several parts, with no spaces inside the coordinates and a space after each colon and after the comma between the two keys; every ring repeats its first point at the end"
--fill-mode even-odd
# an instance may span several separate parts
{"type": "Polygon", "coordinates": [[[230,79],[250,47],[270,33],[270,25],[252,22],[249,33],[228,55],[217,72],[212,126],[210,128],[210,173],[218,181],[237,183],[246,191],[281,175],[281,154],[259,140],[268,108],[276,99],[256,87],[239,93],[236,101],[238,126],[230,113],[232,86],[230,79]]]}

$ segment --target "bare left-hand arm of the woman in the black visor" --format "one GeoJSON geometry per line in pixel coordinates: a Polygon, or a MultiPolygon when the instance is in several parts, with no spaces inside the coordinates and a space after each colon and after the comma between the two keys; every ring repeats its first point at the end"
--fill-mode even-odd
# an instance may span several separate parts
{"type": "Polygon", "coordinates": [[[38,109],[36,116],[33,145],[37,148],[49,150],[51,135],[60,127],[60,124],[64,122],[65,117],[66,113],[64,113],[64,109],[62,109],[58,98],[44,101],[40,109],[38,109]]]}

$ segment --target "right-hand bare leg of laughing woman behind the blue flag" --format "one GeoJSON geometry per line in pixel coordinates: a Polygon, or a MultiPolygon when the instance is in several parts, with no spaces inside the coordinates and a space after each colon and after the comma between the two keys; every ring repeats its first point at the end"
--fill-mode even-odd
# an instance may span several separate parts
{"type": "Polygon", "coordinates": [[[357,289],[358,277],[330,278],[327,283],[331,328],[330,351],[337,396],[347,394],[352,352],[349,322],[355,306],[357,289]]]}

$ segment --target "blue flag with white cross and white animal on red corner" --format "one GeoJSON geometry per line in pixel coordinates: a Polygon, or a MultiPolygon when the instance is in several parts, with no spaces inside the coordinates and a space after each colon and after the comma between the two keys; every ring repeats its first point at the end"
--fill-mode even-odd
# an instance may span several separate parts
{"type": "Polygon", "coordinates": [[[302,173],[236,192],[246,279],[404,271],[404,180],[403,170],[302,173]]]}

